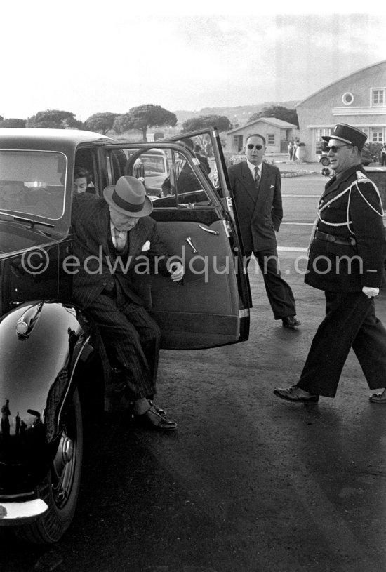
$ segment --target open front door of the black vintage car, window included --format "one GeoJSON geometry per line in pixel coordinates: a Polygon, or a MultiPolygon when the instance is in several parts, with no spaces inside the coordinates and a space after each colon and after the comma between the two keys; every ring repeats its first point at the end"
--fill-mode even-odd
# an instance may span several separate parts
{"type": "Polygon", "coordinates": [[[211,142],[209,173],[180,140],[105,147],[109,185],[121,175],[135,176],[142,162],[140,173],[153,202],[159,236],[185,267],[182,284],[148,272],[133,276],[145,307],[161,328],[161,347],[173,350],[247,340],[251,307],[217,130],[183,137],[211,142]],[[167,172],[159,178],[165,164],[167,172]]]}

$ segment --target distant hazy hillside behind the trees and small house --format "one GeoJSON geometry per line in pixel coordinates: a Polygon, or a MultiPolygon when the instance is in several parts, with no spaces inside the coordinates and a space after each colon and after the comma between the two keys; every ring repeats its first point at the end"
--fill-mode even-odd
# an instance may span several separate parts
{"type": "Polygon", "coordinates": [[[175,115],[178,119],[178,124],[182,124],[191,117],[200,117],[201,115],[225,115],[228,117],[232,124],[244,125],[248,123],[249,117],[254,113],[258,113],[263,107],[270,107],[271,105],[282,105],[287,109],[295,109],[300,101],[265,101],[263,103],[256,103],[255,105],[237,105],[236,107],[203,107],[197,111],[187,111],[185,109],[178,109],[175,115]]]}

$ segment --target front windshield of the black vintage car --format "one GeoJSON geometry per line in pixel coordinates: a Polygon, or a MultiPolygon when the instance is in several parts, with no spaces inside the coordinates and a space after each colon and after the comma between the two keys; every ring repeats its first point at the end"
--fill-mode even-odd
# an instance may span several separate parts
{"type": "Polygon", "coordinates": [[[0,150],[0,210],[60,218],[66,172],[62,153],[0,150]]]}

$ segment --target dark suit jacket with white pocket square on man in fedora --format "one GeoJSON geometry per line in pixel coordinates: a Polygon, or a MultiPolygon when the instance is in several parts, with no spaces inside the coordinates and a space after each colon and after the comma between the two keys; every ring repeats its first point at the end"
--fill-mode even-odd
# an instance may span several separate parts
{"type": "Polygon", "coordinates": [[[88,193],[77,195],[72,203],[72,230],[73,254],[80,262],[79,272],[74,274],[74,298],[83,307],[90,305],[102,290],[111,290],[116,279],[128,298],[142,304],[131,284],[131,276],[135,272],[136,263],[142,264],[138,270],[143,272],[145,260],[152,262],[155,256],[165,257],[158,263],[158,270],[160,274],[170,276],[166,269],[166,260],[171,255],[159,239],[157,223],[149,216],[140,218],[137,225],[128,232],[128,248],[121,254],[124,270],[119,264],[114,270],[118,253],[114,253],[109,205],[104,199],[88,193]],[[144,255],[146,259],[143,258],[144,255]],[[89,272],[85,270],[85,261],[89,272]]]}

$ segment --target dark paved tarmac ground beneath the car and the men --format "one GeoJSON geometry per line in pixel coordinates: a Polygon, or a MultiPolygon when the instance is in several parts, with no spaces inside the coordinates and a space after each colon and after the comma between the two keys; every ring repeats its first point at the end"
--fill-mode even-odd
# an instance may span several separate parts
{"type": "MultiPolygon", "coordinates": [[[[178,432],[135,429],[124,413],[96,420],[71,528],[53,547],[0,531],[1,572],[386,570],[386,406],[368,401],[354,354],[335,399],[272,394],[298,380],[324,314],[302,255],[280,251],[298,331],[274,321],[251,272],[248,342],[161,352],[159,402],[178,432]]],[[[386,324],[385,291],[376,307],[386,324]]]]}

